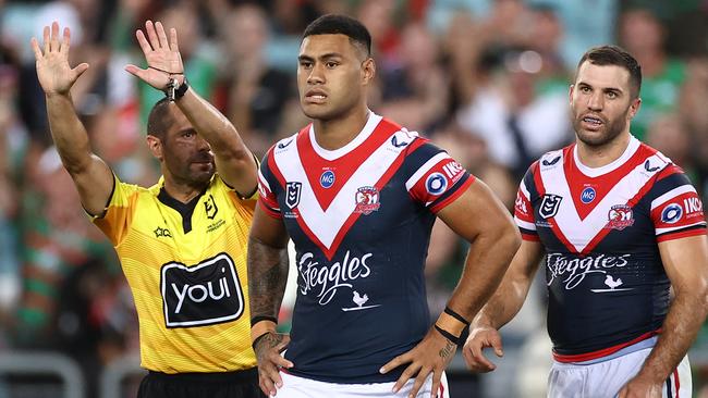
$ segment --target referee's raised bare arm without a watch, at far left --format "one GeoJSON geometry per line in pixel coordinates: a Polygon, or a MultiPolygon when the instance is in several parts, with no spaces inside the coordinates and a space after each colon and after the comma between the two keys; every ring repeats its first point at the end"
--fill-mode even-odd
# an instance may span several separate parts
{"type": "Polygon", "coordinates": [[[84,209],[90,214],[102,214],[113,189],[113,174],[108,165],[91,152],[86,128],[78,120],[71,99],[71,88],[87,69],[82,63],[69,65],[71,32],[64,28],[59,37],[59,24],[45,26],[44,48],[32,39],[37,77],[45,91],[51,137],[61,162],[71,175],[84,209]]]}

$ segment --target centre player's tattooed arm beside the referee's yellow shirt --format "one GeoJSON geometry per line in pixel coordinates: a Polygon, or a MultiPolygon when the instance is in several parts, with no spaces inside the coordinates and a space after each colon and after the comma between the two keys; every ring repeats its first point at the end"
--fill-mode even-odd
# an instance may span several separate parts
{"type": "Polygon", "coordinates": [[[276,395],[282,386],[279,368],[293,363],[281,357],[290,337],[276,332],[278,312],[288,282],[288,233],[282,220],[267,215],[256,207],[248,238],[248,294],[251,337],[258,359],[260,389],[276,395]]]}

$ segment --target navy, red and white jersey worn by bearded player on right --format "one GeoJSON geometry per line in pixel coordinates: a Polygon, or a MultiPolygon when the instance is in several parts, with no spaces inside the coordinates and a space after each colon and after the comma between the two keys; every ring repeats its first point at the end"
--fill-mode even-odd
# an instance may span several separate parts
{"type": "Polygon", "coordinates": [[[546,250],[554,358],[601,358],[659,333],[670,281],[658,242],[705,234],[703,204],[681,169],[632,137],[603,167],[575,145],[548,152],[521,183],[515,216],[546,250]]]}

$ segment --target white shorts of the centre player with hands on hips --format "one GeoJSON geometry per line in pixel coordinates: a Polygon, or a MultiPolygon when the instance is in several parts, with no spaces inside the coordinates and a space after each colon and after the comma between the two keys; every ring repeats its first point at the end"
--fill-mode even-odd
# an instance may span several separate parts
{"type": "MultiPolygon", "coordinates": [[[[407,397],[413,388],[414,380],[410,380],[398,394],[392,393],[391,383],[373,383],[373,384],[339,384],[318,382],[310,378],[294,376],[289,373],[280,372],[283,380],[282,388],[278,389],[278,398],[365,398],[365,397],[407,397]]],[[[423,387],[418,390],[418,398],[430,398],[432,388],[432,375],[428,377],[423,387]]],[[[448,390],[448,377],[442,373],[440,380],[439,393],[437,398],[450,398],[448,390]]]]}

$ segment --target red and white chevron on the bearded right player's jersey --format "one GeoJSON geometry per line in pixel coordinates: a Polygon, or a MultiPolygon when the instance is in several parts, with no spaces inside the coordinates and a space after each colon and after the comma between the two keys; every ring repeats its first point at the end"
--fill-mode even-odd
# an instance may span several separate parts
{"type": "Polygon", "coordinates": [[[571,252],[587,253],[612,228],[628,225],[631,213],[626,213],[627,209],[646,194],[654,177],[670,163],[659,152],[632,140],[625,153],[613,164],[595,171],[586,167],[582,172],[574,159],[575,148],[570,146],[545,154],[538,163],[535,181],[539,195],[544,197],[539,211],[541,219],[551,224],[553,234],[571,252]],[[608,170],[611,171],[603,173],[608,170]],[[596,175],[587,175],[593,173],[596,175]],[[594,204],[585,210],[583,216],[578,209],[582,207],[578,200],[582,201],[583,185],[577,182],[588,179],[596,179],[598,188],[593,200],[588,200],[594,204]],[[613,222],[617,217],[624,221],[613,222]]]}

